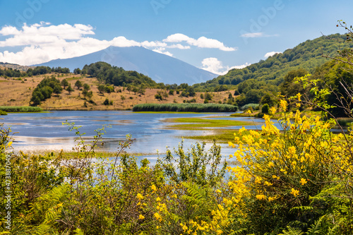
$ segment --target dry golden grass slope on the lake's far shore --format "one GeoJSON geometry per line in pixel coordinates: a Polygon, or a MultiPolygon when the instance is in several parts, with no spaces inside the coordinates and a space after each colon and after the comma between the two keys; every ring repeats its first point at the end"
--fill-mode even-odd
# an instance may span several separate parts
{"type": "MultiPolygon", "coordinates": [[[[155,99],[155,95],[160,89],[149,89],[145,90],[145,95],[140,95],[134,92],[128,92],[121,87],[115,87],[115,91],[121,90],[121,92],[112,92],[110,94],[100,94],[97,89],[99,82],[96,78],[87,78],[80,75],[61,75],[52,73],[50,76],[56,76],[59,80],[66,78],[68,83],[71,83],[71,87],[74,89],[71,94],[68,94],[66,90],[63,90],[59,96],[53,95],[52,98],[42,102],[40,107],[44,110],[126,110],[131,109],[135,104],[145,103],[182,103],[184,100],[196,99],[197,103],[203,103],[203,99],[200,98],[201,93],[197,92],[195,97],[179,97],[174,92],[174,95],[165,97],[165,100],[155,99]],[[74,88],[76,80],[80,80],[82,83],[88,83],[90,89],[93,92],[92,101],[95,104],[91,104],[88,100],[83,98],[81,95],[82,90],[74,88]],[[122,99],[123,97],[123,99],[122,99]],[[125,99],[124,99],[125,97],[125,99]],[[105,99],[113,101],[113,105],[104,105],[105,99]],[[87,104],[87,107],[84,104],[87,104]]],[[[48,76],[48,75],[46,75],[48,76]]],[[[30,98],[32,97],[32,91],[37,87],[38,83],[44,78],[44,76],[33,76],[30,78],[23,78],[23,80],[16,80],[16,78],[2,78],[0,77],[0,106],[28,106],[30,104],[30,98]]],[[[162,90],[164,92],[165,90],[162,90]]],[[[168,92],[168,91],[167,91],[168,92]]],[[[225,92],[210,92],[213,95],[213,100],[210,102],[218,103],[219,101],[228,98],[229,92],[234,93],[234,90],[225,92]]]]}

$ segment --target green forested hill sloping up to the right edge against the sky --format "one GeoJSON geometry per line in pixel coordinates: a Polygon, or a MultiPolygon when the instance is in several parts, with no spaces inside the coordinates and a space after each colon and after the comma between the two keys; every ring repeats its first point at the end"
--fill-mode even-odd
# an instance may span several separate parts
{"type": "Polygon", "coordinates": [[[258,85],[266,86],[266,90],[277,90],[277,86],[283,82],[284,76],[289,71],[304,68],[309,73],[313,73],[315,68],[328,61],[322,56],[323,54],[333,55],[338,49],[353,47],[353,44],[343,43],[345,39],[345,35],[335,34],[307,40],[293,49],[287,49],[281,54],[275,54],[246,68],[232,69],[225,76],[218,76],[206,83],[196,84],[194,88],[196,90],[219,90],[220,86],[224,85],[223,88],[225,88],[227,85],[229,89],[233,85],[249,80],[250,83],[263,81],[258,85]]]}

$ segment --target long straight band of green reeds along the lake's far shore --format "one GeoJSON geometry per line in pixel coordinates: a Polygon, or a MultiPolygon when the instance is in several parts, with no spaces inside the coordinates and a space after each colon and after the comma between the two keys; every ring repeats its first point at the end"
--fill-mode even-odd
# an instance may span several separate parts
{"type": "Polygon", "coordinates": [[[136,104],[133,112],[236,112],[230,104],[136,104]]]}

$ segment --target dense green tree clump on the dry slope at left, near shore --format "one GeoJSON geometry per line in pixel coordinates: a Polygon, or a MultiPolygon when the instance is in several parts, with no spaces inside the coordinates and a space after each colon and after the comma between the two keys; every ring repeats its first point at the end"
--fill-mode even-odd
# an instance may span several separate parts
{"type": "Polygon", "coordinates": [[[58,95],[62,90],[60,80],[56,79],[55,76],[44,78],[40,84],[37,85],[37,88],[33,90],[30,103],[33,106],[37,106],[42,101],[52,97],[52,93],[58,95]]]}

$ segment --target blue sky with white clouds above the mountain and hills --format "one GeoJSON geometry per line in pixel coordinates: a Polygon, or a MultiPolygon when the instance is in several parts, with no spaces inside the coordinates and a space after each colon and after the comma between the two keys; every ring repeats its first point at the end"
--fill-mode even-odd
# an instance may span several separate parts
{"type": "Polygon", "coordinates": [[[30,65],[138,45],[225,73],[344,33],[335,25],[353,24],[352,8],[332,0],[0,0],[0,61],[30,65]]]}

